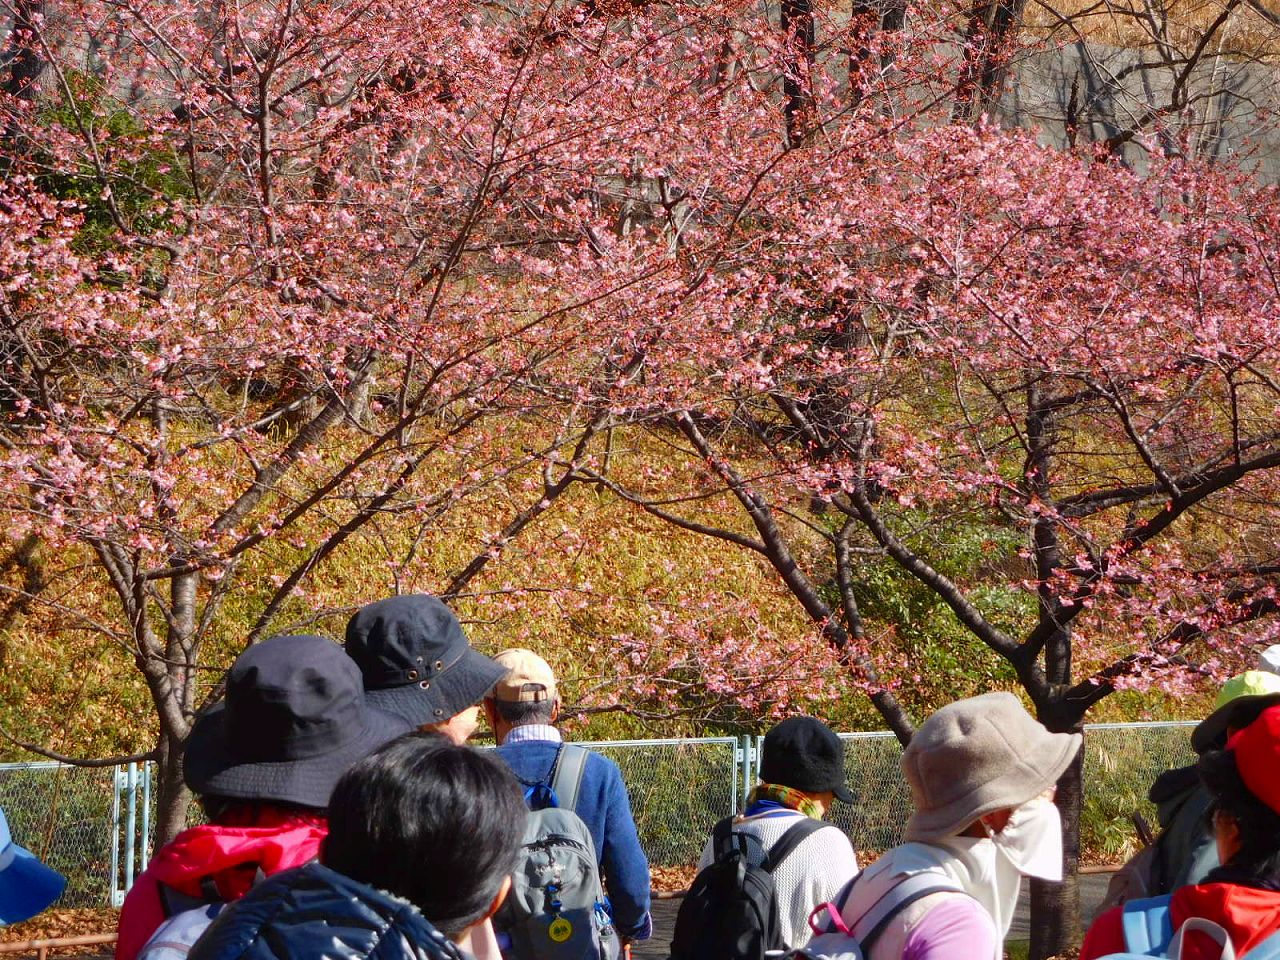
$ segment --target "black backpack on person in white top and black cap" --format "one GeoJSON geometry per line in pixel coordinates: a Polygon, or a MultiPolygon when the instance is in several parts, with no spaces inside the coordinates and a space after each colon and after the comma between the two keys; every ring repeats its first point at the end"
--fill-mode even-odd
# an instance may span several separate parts
{"type": "Polygon", "coordinates": [[[765,951],[790,947],[780,932],[773,872],[824,826],[804,817],[765,855],[759,837],[733,831],[732,817],[717,823],[716,859],[698,873],[680,905],[669,960],[764,960],[765,951]]]}

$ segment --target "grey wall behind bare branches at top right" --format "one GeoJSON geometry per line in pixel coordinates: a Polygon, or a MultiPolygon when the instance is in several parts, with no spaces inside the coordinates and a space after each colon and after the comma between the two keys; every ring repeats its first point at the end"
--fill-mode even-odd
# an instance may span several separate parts
{"type": "Polygon", "coordinates": [[[1065,146],[1074,118],[1076,142],[1143,134],[1124,142],[1124,159],[1146,170],[1152,137],[1143,118],[1162,114],[1156,145],[1203,157],[1234,159],[1256,177],[1280,179],[1280,70],[1261,63],[1207,58],[1183,82],[1187,108],[1169,113],[1180,65],[1153,63],[1155,51],[1075,42],[1027,54],[1012,65],[993,114],[1065,146]]]}

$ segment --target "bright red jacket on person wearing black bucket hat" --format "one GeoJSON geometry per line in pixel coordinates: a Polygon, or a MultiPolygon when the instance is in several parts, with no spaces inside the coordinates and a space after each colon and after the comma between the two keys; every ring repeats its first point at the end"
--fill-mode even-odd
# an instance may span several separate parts
{"type": "Polygon", "coordinates": [[[207,824],[174,837],[152,858],[120,908],[115,960],[136,960],[165,920],[160,884],[202,899],[207,877],[223,900],[239,900],[259,869],[270,876],[301,867],[320,855],[328,833],[323,817],[262,810],[253,826],[207,824]]]}

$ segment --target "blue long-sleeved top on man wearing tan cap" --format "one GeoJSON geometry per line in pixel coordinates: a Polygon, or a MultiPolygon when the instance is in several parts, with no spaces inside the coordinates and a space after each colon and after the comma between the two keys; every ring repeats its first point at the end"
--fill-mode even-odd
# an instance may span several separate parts
{"type": "MultiPolygon", "coordinates": [[[[498,755],[525,783],[549,782],[558,746],[550,740],[522,740],[499,746],[498,755]]],[[[627,788],[613,760],[596,753],[586,758],[575,812],[591,831],[614,927],[622,937],[644,940],[652,932],[649,860],[640,849],[627,788]]]]}

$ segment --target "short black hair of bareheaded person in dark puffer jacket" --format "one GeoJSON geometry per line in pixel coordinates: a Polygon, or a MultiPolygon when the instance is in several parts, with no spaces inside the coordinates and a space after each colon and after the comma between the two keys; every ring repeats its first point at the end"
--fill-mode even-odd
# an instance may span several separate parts
{"type": "Polygon", "coordinates": [[[402,896],[445,936],[481,919],[516,865],[525,801],[497,756],[413,732],[353,765],[320,859],[402,896]]]}

